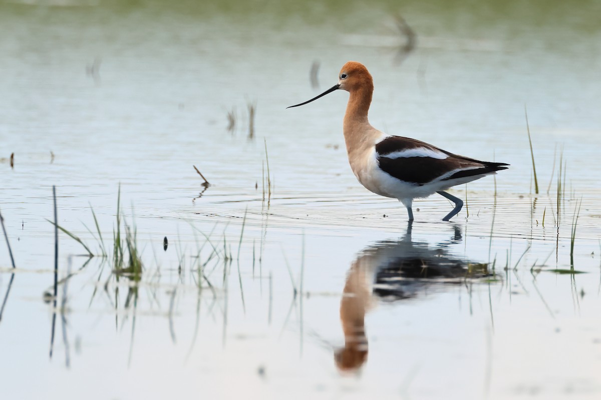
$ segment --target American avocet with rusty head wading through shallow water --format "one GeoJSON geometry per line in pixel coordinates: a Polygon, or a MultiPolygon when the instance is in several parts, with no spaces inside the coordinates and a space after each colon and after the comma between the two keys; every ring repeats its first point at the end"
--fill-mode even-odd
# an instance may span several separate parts
{"type": "Polygon", "coordinates": [[[372,127],[367,113],[374,91],[373,79],[359,62],[344,64],[338,83],[327,91],[290,107],[311,103],[337,89],[350,93],[344,115],[344,142],[353,173],[367,190],[403,203],[410,221],[413,220],[413,199],[434,193],[455,203],[453,211],[442,218],[448,221],[462,209],[463,201],[445,190],[495,174],[509,165],[463,157],[416,139],[387,135],[372,127]]]}

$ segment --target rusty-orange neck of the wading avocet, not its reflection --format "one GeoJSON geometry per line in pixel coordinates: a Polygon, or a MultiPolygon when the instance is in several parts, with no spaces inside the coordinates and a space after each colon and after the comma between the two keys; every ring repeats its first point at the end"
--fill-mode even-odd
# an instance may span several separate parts
{"type": "Polygon", "coordinates": [[[367,114],[370,110],[372,86],[362,86],[350,92],[349,103],[344,115],[344,142],[349,158],[356,151],[361,151],[362,143],[368,138],[366,133],[371,131],[367,114]]]}

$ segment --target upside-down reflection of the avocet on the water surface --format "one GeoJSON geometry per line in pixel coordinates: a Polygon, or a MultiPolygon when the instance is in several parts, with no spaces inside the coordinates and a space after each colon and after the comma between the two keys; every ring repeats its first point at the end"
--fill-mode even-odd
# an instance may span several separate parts
{"type": "Polygon", "coordinates": [[[344,347],[335,351],[340,371],[354,371],[367,360],[365,314],[378,302],[410,299],[433,284],[460,284],[488,276],[488,265],[471,263],[450,252],[462,241],[460,227],[435,246],[411,239],[412,221],[400,240],[385,240],[363,249],[350,266],[340,300],[344,347]]]}

